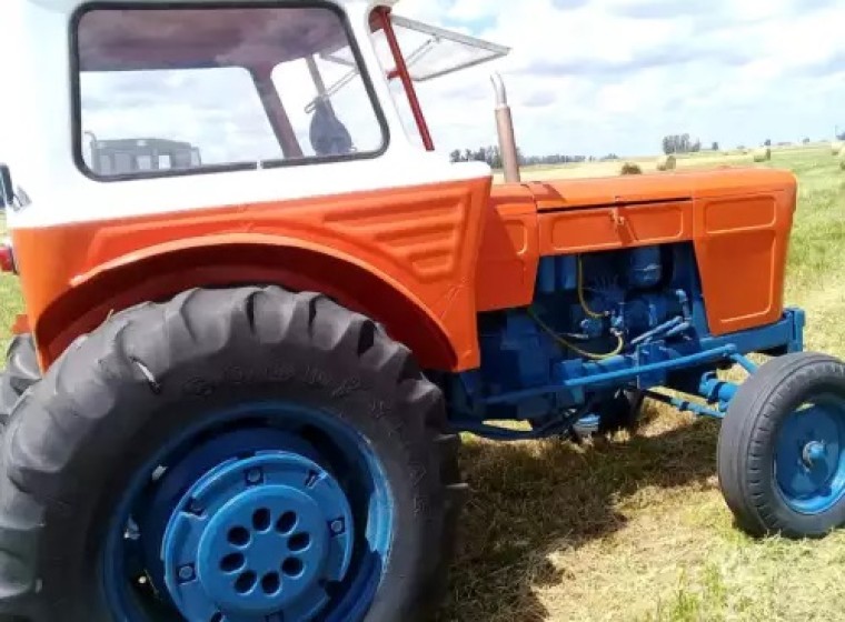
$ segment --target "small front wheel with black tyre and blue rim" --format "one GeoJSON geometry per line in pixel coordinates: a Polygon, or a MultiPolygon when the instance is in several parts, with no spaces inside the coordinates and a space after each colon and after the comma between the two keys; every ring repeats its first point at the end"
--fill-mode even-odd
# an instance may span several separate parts
{"type": "Polygon", "coordinates": [[[821,538],[845,525],[845,363],[802,352],[764,364],[728,407],[718,476],[752,535],[821,538]]]}

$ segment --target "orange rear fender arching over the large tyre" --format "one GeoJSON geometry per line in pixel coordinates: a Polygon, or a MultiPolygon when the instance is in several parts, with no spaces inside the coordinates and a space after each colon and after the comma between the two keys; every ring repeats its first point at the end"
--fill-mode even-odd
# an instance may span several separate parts
{"type": "Polygon", "coordinates": [[[366,312],[426,367],[475,367],[475,270],[489,184],[16,229],[41,362],[49,365],[112,310],[197,285],[272,282],[366,312]]]}

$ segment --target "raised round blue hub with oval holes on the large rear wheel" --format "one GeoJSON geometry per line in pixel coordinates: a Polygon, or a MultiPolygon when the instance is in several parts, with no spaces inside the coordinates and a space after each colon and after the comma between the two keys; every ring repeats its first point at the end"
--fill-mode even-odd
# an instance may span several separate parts
{"type": "Polygon", "coordinates": [[[351,533],[346,495],[316,462],[285,451],[230,460],[170,516],[165,581],[188,620],[308,620],[344,579],[351,533]]]}

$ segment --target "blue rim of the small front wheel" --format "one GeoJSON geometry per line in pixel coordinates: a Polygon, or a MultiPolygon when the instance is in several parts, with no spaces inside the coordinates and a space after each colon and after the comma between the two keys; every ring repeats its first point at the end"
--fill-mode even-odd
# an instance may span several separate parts
{"type": "Polygon", "coordinates": [[[818,514],[845,496],[845,402],[829,397],[792,412],[775,448],[775,478],[786,504],[818,514]]]}

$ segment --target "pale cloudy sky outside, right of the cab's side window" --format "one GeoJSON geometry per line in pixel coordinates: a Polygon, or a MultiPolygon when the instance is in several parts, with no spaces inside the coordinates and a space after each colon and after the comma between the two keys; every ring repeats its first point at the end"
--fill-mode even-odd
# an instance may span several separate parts
{"type": "Polygon", "coordinates": [[[667,134],[753,147],[845,131],[845,0],[401,0],[511,48],[420,84],[439,147],[496,140],[501,72],[529,154],[652,154],[667,134]]]}

